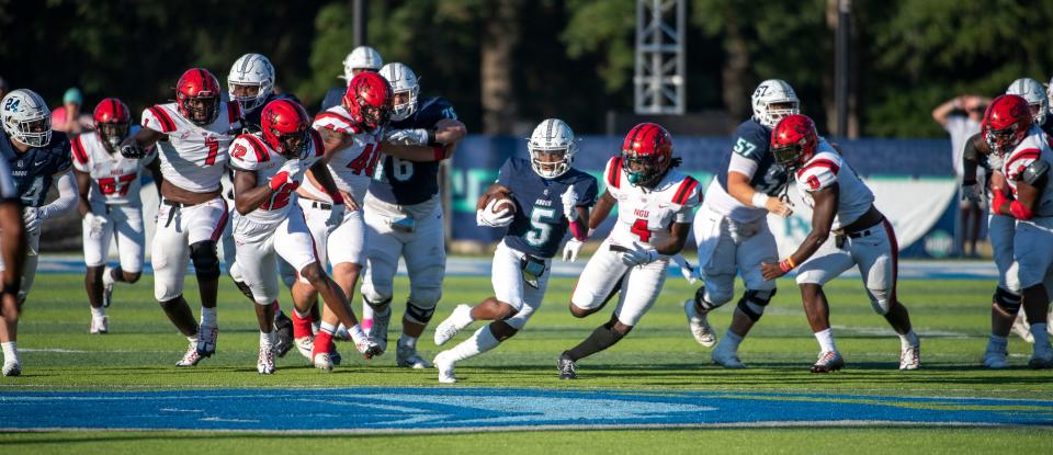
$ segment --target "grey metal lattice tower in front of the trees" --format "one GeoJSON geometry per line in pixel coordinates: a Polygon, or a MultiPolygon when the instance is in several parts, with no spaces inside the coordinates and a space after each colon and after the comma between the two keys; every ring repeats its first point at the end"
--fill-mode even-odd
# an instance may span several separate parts
{"type": "Polygon", "coordinates": [[[636,114],[683,114],[686,15],[683,0],[636,0],[636,114]]]}

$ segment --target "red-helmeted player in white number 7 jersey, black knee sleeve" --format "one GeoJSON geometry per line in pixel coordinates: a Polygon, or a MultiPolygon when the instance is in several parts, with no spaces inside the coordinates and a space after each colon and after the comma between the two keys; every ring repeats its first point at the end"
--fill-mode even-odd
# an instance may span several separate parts
{"type": "Polygon", "coordinates": [[[227,224],[219,180],[231,132],[240,129],[237,102],[219,101],[219,81],[191,68],[176,84],[176,102],[143,111],[143,129],[121,146],[126,158],[143,158],[158,145],[163,180],[154,234],[154,297],[190,346],[177,366],[193,366],[216,351],[219,327],[216,295],[219,258],[216,241],[227,224]],[[188,262],[194,264],[201,293],[201,325],[183,298],[188,262]]]}

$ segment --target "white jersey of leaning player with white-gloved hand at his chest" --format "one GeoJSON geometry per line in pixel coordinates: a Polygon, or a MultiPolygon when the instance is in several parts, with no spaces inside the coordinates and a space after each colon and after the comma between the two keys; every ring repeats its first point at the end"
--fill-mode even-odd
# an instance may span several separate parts
{"type": "MultiPolygon", "coordinates": [[[[292,204],[296,203],[296,189],[304,181],[304,174],[320,160],[325,153],[321,137],[312,130],[310,141],[297,159],[286,159],[274,151],[258,135],[244,134],[230,144],[230,167],[238,171],[256,172],[256,185],[270,184],[271,178],[279,172],[288,172],[288,181],[271,194],[271,198],[260,207],[244,215],[242,218],[258,224],[276,224],[288,217],[292,204]]],[[[235,230],[237,231],[237,226],[235,230]]]]}

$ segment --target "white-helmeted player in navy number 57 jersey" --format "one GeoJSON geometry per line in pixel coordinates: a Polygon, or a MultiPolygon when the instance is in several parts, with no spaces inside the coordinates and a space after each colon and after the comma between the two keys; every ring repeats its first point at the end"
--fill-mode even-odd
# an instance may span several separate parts
{"type": "Polygon", "coordinates": [[[735,132],[735,146],[724,168],[705,191],[702,209],[694,218],[694,238],[699,244],[699,270],[703,286],[694,298],[683,303],[688,326],[695,341],[704,346],[716,343],[706,315],[731,302],[735,275],[746,284],[738,299],[727,333],[713,350],[713,362],[726,368],[744,368],[738,345],[757,323],[775,295],[775,282],[760,273],[762,262],[779,258],[775,236],[768,228],[768,214],[788,217],[792,213],[783,202],[790,174],[775,163],[769,151],[771,128],[800,105],[793,88],[778,79],[766,80],[752,95],[754,117],[735,132]]]}

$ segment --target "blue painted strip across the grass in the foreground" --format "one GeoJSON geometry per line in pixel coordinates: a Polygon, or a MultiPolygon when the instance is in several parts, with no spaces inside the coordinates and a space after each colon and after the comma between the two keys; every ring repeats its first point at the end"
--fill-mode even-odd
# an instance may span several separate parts
{"type": "Polygon", "coordinates": [[[414,433],[874,423],[1053,426],[1053,400],[499,388],[0,393],[0,431],[414,433]]]}

